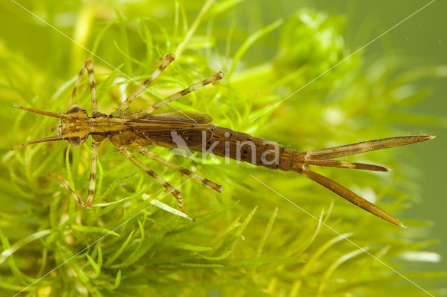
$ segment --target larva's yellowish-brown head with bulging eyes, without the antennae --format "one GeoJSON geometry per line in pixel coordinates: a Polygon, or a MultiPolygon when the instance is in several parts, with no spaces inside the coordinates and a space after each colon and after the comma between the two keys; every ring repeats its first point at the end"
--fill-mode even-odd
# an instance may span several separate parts
{"type": "Polygon", "coordinates": [[[78,105],[70,107],[66,113],[61,114],[57,123],[57,135],[72,146],[80,146],[90,135],[89,116],[85,109],[78,105]]]}

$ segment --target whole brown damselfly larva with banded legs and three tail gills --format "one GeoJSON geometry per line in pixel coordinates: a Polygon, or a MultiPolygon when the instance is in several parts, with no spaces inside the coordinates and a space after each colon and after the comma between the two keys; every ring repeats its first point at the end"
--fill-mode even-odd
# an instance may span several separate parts
{"type": "Polygon", "coordinates": [[[328,166],[350,169],[363,169],[369,171],[387,172],[389,169],[379,165],[370,165],[365,163],[345,162],[339,160],[332,160],[334,158],[344,157],[346,155],[354,155],[358,153],[365,153],[367,151],[375,151],[383,148],[392,148],[395,146],[403,146],[406,144],[413,144],[416,142],[425,142],[434,136],[406,136],[406,137],[392,137],[386,139],[378,139],[367,142],[358,142],[356,144],[347,144],[344,146],[336,146],[332,148],[324,148],[317,151],[299,152],[290,148],[279,146],[275,142],[269,142],[265,139],[251,137],[246,133],[235,132],[228,128],[218,127],[212,124],[212,117],[208,114],[199,112],[173,112],[168,114],[154,115],[154,110],[163,107],[173,100],[177,100],[192,91],[200,89],[200,87],[216,82],[223,77],[223,73],[219,72],[211,77],[193,84],[189,88],[179,91],[167,98],[156,102],[151,107],[143,109],[140,112],[130,112],[127,110],[132,100],[135,99],[142,91],[145,90],[149,84],[175,59],[174,54],[167,54],[156,61],[158,68],[152,75],[143,82],[138,89],[136,89],[131,96],[126,98],[121,107],[112,114],[102,114],[98,112],[96,105],[96,86],[94,79],[94,69],[91,60],[85,61],[85,65],[78,75],[75,83],[71,100],[75,95],[76,90],[82,79],[82,75],[87,70],[89,75],[89,84],[91,92],[91,116],[88,116],[85,109],[78,105],[73,105],[67,112],[55,113],[45,112],[29,107],[17,106],[14,107],[43,114],[45,116],[52,116],[59,118],[57,124],[57,136],[45,137],[36,139],[31,142],[26,142],[15,146],[12,149],[27,146],[29,144],[36,144],[38,142],[50,142],[57,140],[66,140],[73,146],[80,146],[91,135],[91,169],[90,169],[90,183],[87,199],[82,199],[71,190],[68,183],[64,181],[59,174],[55,175],[61,181],[62,185],[71,195],[78,201],[78,203],[90,208],[94,201],[95,191],[95,173],[96,173],[96,158],[98,155],[98,146],[105,139],[109,138],[110,142],[117,146],[117,149],[126,158],[128,158],[135,165],[140,167],[144,172],[156,179],[163,187],[165,187],[178,201],[180,210],[184,211],[182,195],[173,188],[172,185],[163,180],[159,175],[149,169],[145,164],[140,162],[133,156],[131,151],[126,147],[135,148],[138,153],[145,155],[145,157],[160,162],[178,172],[189,176],[194,181],[201,183],[217,192],[222,191],[221,185],[214,183],[206,178],[194,174],[188,169],[184,169],[173,162],[165,160],[164,158],[155,155],[147,149],[149,145],[158,145],[168,148],[184,148],[201,153],[212,153],[214,155],[232,158],[239,161],[249,162],[253,165],[268,167],[270,169],[280,169],[283,171],[294,171],[307,176],[307,178],[316,181],[325,188],[332,190],[339,196],[350,201],[356,206],[369,211],[379,218],[383,218],[388,222],[404,227],[402,222],[389,215],[381,208],[375,206],[369,201],[356,195],[351,190],[344,188],[335,181],[321,176],[308,169],[309,166],[328,166]]]}

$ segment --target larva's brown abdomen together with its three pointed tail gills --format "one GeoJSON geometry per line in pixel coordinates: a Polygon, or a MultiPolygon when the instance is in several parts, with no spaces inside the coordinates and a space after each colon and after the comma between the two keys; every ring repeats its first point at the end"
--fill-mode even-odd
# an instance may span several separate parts
{"type": "Polygon", "coordinates": [[[316,181],[325,188],[340,195],[352,204],[356,204],[365,211],[369,211],[379,218],[383,218],[388,222],[397,224],[397,226],[405,227],[402,222],[389,215],[381,208],[375,206],[371,202],[358,196],[351,190],[344,188],[335,181],[325,176],[321,176],[316,172],[310,171],[310,166],[327,166],[337,168],[362,169],[376,172],[388,172],[390,169],[379,165],[371,165],[365,163],[354,163],[339,160],[346,155],[355,155],[357,153],[365,153],[367,151],[376,151],[383,148],[393,148],[396,146],[404,146],[406,144],[414,144],[416,142],[425,142],[433,139],[434,136],[406,136],[392,137],[378,140],[370,140],[368,142],[358,142],[356,144],[347,144],[345,146],[335,146],[332,148],[324,148],[318,151],[295,151],[291,148],[284,148],[275,142],[270,142],[243,132],[233,131],[229,128],[212,126],[212,139],[206,139],[203,145],[189,147],[193,151],[199,151],[203,154],[212,153],[221,157],[231,158],[237,161],[249,162],[253,165],[263,166],[270,169],[279,169],[283,171],[295,171],[299,174],[307,176],[307,178],[316,181]]]}

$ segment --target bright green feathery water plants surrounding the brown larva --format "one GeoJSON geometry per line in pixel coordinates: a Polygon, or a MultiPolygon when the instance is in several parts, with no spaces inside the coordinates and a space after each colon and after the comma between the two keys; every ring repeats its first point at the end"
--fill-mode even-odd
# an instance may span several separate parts
{"type": "MultiPolygon", "coordinates": [[[[1,142],[2,295],[22,290],[54,296],[424,294],[404,277],[437,294],[432,288],[442,274],[406,265],[412,259],[409,252],[417,256],[434,241],[416,240],[292,172],[219,158],[201,164],[170,155],[166,148],[151,148],[223,185],[218,194],[139,158],[170,184],[181,185],[186,210],[196,219],[191,222],[175,211],[177,201],[161,185],[104,142],[95,203],[109,205],[81,208],[49,174],[61,174],[86,197],[91,140],[80,148],[54,142],[9,151],[20,142],[54,135],[56,126],[54,119],[9,105],[66,111],[75,75],[82,60],[91,57],[98,107],[110,114],[133,91],[133,80],[145,79],[152,73],[153,61],[175,52],[177,59],[133,102],[133,109],[222,70],[226,77],[219,83],[173,106],[206,112],[221,126],[305,151],[406,135],[395,123],[436,121],[402,110],[426,95],[413,82],[445,75],[444,68],[396,75],[389,62],[363,66],[356,55],[307,85],[351,53],[342,38],[343,17],[300,10],[247,33],[230,13],[239,1],[208,0],[203,7],[196,1],[152,6],[136,1],[116,11],[44,2],[47,6],[29,9],[64,28],[94,56],[10,7],[20,15],[17,33],[40,33],[42,40],[31,36],[34,47],[23,40],[22,47],[32,47],[23,50],[17,50],[17,43],[0,40],[1,109],[8,110],[3,112],[3,123],[9,127],[1,142]],[[70,15],[71,11],[77,13],[70,15]],[[250,55],[256,51],[272,57],[254,61],[250,55]]],[[[87,81],[82,81],[74,103],[90,112],[87,81]]],[[[414,170],[408,152],[397,148],[351,158],[395,169],[388,174],[329,168],[318,172],[399,217],[416,195],[411,175],[404,174],[414,170]]],[[[409,227],[428,227],[426,222],[400,219],[409,227]]]]}

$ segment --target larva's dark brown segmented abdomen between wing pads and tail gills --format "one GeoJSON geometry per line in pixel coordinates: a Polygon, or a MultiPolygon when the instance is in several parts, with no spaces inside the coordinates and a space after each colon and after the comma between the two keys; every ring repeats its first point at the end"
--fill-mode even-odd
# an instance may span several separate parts
{"type": "Polygon", "coordinates": [[[284,148],[276,142],[217,126],[214,126],[213,137],[206,145],[194,146],[191,149],[284,171],[296,166],[294,163],[297,160],[299,162],[302,156],[302,153],[284,148]]]}

